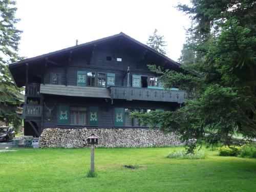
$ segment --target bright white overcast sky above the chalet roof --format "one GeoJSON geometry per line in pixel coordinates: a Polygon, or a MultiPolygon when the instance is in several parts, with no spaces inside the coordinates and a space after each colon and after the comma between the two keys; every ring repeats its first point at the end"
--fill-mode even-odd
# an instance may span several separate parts
{"type": "Polygon", "coordinates": [[[177,60],[189,18],[174,6],[189,0],[17,0],[19,55],[33,57],[123,32],[146,44],[157,29],[177,60]]]}

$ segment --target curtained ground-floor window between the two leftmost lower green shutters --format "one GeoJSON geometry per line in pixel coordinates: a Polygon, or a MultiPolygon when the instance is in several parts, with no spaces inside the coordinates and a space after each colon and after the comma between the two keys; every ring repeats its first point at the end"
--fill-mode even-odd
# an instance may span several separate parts
{"type": "Polygon", "coordinates": [[[71,106],[70,107],[70,124],[86,125],[87,124],[87,107],[71,106]]]}

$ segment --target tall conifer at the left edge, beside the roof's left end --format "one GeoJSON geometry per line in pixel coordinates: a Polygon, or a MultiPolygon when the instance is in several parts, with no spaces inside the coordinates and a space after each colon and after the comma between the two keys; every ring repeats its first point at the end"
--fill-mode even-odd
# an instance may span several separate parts
{"type": "Polygon", "coordinates": [[[17,106],[21,104],[17,97],[20,90],[15,87],[6,66],[7,63],[19,58],[18,41],[22,31],[15,28],[15,24],[19,21],[15,18],[17,10],[15,4],[15,1],[0,1],[0,120],[17,127],[21,120],[16,114],[17,106]]]}

